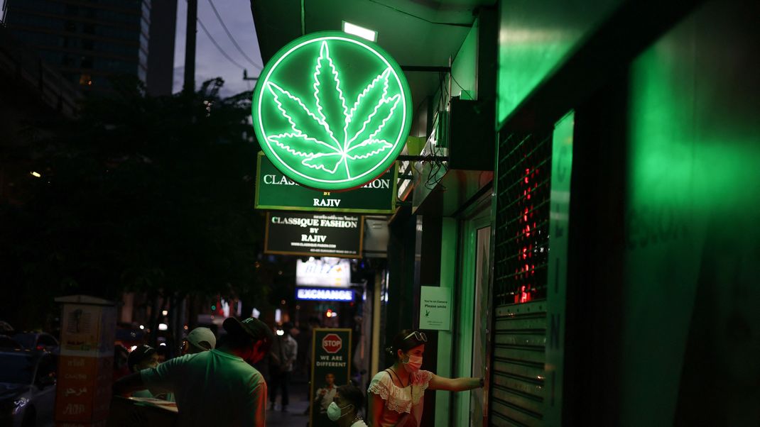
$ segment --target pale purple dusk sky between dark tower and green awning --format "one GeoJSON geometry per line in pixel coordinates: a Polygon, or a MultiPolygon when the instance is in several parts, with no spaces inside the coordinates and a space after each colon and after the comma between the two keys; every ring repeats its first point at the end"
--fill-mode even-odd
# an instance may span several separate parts
{"type": "MultiPolygon", "coordinates": [[[[195,41],[195,86],[198,87],[204,80],[214,77],[222,77],[224,86],[222,96],[230,96],[253,88],[253,81],[242,80],[242,68],[248,69],[249,77],[258,76],[261,71],[261,53],[258,51],[258,39],[251,14],[249,0],[211,0],[219,11],[224,24],[232,33],[237,44],[245,52],[245,55],[259,67],[252,65],[248,59],[236,49],[230,37],[224,32],[219,19],[214,14],[209,0],[198,0],[198,19],[206,26],[211,36],[221,48],[237,64],[225,58],[223,53],[214,46],[204,30],[198,24],[198,33],[195,41]]],[[[174,89],[178,92],[182,89],[182,80],[185,73],[185,27],[187,24],[187,0],[177,2],[177,32],[174,48],[174,89]]]]}

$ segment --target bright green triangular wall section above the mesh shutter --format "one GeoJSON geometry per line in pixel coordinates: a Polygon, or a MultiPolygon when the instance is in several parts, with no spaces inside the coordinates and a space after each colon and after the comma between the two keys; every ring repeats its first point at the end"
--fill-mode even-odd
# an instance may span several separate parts
{"type": "Polygon", "coordinates": [[[497,123],[559,68],[620,0],[502,0],[497,123]]]}

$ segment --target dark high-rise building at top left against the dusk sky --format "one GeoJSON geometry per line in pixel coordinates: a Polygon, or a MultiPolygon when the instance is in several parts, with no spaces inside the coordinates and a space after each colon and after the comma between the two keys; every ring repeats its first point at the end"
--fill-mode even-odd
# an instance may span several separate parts
{"type": "Polygon", "coordinates": [[[154,27],[150,0],[28,0],[5,6],[4,21],[11,34],[84,91],[108,92],[110,78],[128,75],[138,77],[151,92],[166,93],[163,86],[167,84],[165,69],[173,63],[176,1],[157,8],[155,19],[160,26],[154,27]],[[151,36],[157,39],[152,44],[151,36]],[[151,48],[158,51],[153,61],[151,48]],[[149,64],[157,68],[155,77],[149,64]]]}

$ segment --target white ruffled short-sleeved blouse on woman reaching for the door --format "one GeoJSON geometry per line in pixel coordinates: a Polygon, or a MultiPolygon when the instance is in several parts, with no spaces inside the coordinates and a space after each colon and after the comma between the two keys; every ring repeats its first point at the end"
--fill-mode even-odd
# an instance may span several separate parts
{"type": "Polygon", "coordinates": [[[419,370],[409,375],[410,385],[399,387],[393,383],[388,369],[378,372],[369,383],[367,391],[378,394],[385,400],[382,413],[382,427],[416,427],[423,416],[423,396],[428,388],[432,372],[419,370]]]}

